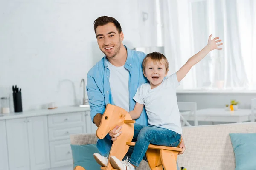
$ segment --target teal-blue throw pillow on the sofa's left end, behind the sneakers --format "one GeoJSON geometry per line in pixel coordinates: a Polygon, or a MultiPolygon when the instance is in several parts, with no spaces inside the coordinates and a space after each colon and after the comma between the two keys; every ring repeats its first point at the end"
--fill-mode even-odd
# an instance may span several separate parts
{"type": "Polygon", "coordinates": [[[96,144],[71,144],[74,168],[81,166],[86,170],[100,170],[100,165],[93,158],[93,153],[99,153],[96,144]]]}

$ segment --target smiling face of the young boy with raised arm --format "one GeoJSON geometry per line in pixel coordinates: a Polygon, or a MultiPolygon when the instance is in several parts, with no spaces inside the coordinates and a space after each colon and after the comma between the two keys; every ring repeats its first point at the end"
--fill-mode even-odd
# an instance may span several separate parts
{"type": "Polygon", "coordinates": [[[154,63],[151,59],[148,59],[143,73],[150,82],[151,89],[153,89],[162,83],[167,71],[163,61],[154,63]]]}

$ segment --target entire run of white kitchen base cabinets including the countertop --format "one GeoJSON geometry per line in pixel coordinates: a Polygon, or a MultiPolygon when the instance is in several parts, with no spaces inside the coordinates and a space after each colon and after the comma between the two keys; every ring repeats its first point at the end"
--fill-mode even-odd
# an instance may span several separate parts
{"type": "Polygon", "coordinates": [[[72,106],[1,116],[0,170],[72,170],[70,134],[96,132],[88,116],[72,106]]]}

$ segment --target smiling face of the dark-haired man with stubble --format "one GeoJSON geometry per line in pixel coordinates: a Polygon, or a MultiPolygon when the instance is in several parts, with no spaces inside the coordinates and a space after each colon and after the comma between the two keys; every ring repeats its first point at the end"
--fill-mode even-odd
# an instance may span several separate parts
{"type": "Polygon", "coordinates": [[[96,37],[99,49],[106,55],[106,57],[114,57],[118,54],[122,40],[123,33],[118,34],[114,23],[107,23],[104,26],[96,28],[96,37]]]}

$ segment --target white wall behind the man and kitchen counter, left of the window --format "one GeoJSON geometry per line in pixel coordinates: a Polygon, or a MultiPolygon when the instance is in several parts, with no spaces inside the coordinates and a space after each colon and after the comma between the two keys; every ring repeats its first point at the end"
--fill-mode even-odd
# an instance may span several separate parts
{"type": "Polygon", "coordinates": [[[93,21],[121,23],[129,48],[140,45],[137,0],[1,0],[0,97],[22,88],[23,110],[78,105],[80,81],[104,55],[93,21]]]}

